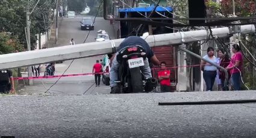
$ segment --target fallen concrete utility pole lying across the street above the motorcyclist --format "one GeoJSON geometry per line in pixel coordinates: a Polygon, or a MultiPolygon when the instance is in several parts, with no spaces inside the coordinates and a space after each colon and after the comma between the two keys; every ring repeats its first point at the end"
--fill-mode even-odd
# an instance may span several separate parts
{"type": "MultiPolygon", "coordinates": [[[[228,27],[211,29],[213,35],[223,38],[233,34],[228,27]]],[[[255,33],[254,25],[241,26],[242,34],[255,33]]],[[[145,38],[149,46],[165,46],[173,44],[191,43],[207,40],[209,31],[188,31],[171,34],[149,35],[145,38]]],[[[118,47],[123,39],[101,41],[93,43],[76,44],[74,46],[54,47],[51,49],[34,50],[29,52],[10,53],[0,55],[0,69],[38,65],[54,61],[66,61],[70,59],[86,58],[96,55],[104,55],[113,52],[113,47],[118,47]]]]}

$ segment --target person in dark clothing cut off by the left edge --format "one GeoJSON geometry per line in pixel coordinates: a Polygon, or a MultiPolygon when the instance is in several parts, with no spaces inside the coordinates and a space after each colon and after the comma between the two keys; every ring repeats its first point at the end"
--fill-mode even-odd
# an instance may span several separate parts
{"type": "Polygon", "coordinates": [[[14,92],[14,80],[11,70],[0,70],[0,93],[14,92]]]}

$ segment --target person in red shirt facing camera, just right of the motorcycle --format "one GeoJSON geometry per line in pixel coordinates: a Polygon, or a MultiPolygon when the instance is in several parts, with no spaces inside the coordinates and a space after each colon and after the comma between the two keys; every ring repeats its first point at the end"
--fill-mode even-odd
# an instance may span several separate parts
{"type": "Polygon", "coordinates": [[[158,79],[161,84],[162,92],[170,92],[170,70],[166,69],[166,62],[161,62],[161,68],[163,70],[158,72],[158,79]]]}

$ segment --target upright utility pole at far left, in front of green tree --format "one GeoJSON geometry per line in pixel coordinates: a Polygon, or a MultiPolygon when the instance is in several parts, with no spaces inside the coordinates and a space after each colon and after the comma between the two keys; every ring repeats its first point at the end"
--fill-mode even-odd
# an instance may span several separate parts
{"type": "MultiPolygon", "coordinates": [[[[26,11],[26,22],[27,22],[27,50],[31,50],[30,46],[30,2],[28,1],[27,11],[26,11]]],[[[28,67],[28,77],[31,77],[31,67],[28,67]]],[[[33,80],[28,80],[28,85],[33,85],[33,80]]]]}

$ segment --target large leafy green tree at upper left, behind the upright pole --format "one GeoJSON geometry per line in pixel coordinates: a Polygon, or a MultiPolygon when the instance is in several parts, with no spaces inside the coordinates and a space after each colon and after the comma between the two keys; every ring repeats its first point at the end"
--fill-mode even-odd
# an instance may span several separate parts
{"type": "MultiPolygon", "coordinates": [[[[25,35],[26,8],[30,5],[33,10],[38,0],[2,0],[0,1],[0,32],[11,32],[17,36],[20,43],[27,49],[27,39],[25,35]]],[[[45,33],[52,23],[52,8],[55,8],[55,0],[39,1],[39,4],[30,14],[31,19],[31,49],[36,43],[36,34],[45,33]]]]}

